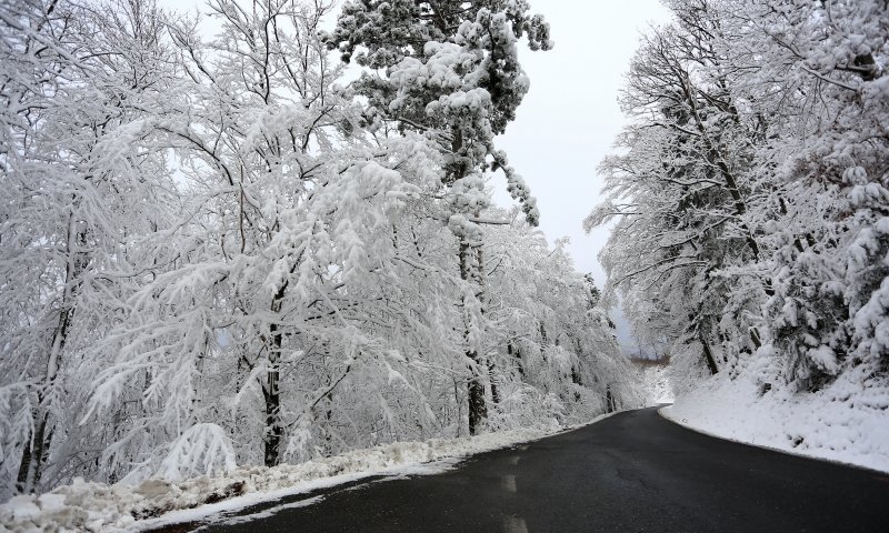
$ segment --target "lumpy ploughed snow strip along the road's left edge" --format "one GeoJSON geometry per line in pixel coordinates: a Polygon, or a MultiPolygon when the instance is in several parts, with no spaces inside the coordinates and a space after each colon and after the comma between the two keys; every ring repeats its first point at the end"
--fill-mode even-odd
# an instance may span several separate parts
{"type": "Polygon", "coordinates": [[[147,480],[138,485],[76,482],[39,496],[16,496],[1,504],[0,532],[142,531],[198,521],[223,511],[370,476],[438,473],[469,455],[576,428],[579,426],[553,424],[546,430],[397,442],[300,464],[240,466],[223,476],[200,476],[173,483],[163,480],[147,480]]]}

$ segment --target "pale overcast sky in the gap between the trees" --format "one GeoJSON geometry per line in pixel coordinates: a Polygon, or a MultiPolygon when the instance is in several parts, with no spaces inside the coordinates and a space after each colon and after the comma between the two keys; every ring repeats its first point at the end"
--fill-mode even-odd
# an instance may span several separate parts
{"type": "MultiPolygon", "coordinates": [[[[600,198],[596,167],[623,124],[618,90],[639,33],[668,13],[659,0],[531,0],[531,7],[549,21],[556,47],[521,51],[531,90],[498,145],[537,197],[550,242],[569,237],[578,270],[592,272],[601,288],[605,272],[596,255],[608,232],[588,235],[581,224],[600,198]]],[[[497,189],[498,201],[509,202],[503,187],[497,189]]],[[[626,324],[618,323],[621,344],[630,349],[626,324]]]]}

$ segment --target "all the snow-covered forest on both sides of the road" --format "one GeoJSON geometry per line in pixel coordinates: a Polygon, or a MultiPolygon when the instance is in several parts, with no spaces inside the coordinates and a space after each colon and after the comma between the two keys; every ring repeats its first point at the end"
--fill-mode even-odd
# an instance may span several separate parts
{"type": "Polygon", "coordinates": [[[0,501],[635,409],[618,305],[678,396],[879,441],[889,3],[663,3],[597,288],[498,148],[527,0],[0,0],[0,501]]]}

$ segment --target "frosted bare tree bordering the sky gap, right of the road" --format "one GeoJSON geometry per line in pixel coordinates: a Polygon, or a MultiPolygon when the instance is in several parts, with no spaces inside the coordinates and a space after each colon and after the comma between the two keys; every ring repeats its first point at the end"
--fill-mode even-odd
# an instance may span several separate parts
{"type": "Polygon", "coordinates": [[[761,345],[757,320],[772,290],[756,268],[756,202],[769,192],[751,164],[761,121],[740,111],[749,99],[719,51],[728,37],[718,12],[706,1],[670,6],[677,22],[650,31],[631,63],[627,151],[602,162],[609,199],[587,223],[618,219],[602,261],[637,329],[693,343],[716,373],[761,345]]]}

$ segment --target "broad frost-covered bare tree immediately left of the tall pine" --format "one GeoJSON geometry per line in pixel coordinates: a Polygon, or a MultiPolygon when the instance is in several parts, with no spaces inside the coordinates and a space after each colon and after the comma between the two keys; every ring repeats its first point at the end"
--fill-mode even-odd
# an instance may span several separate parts
{"type": "MultiPolygon", "coordinates": [[[[309,453],[313,408],[344,375],[387,364],[382,343],[354,325],[370,310],[353,295],[372,299],[383,284],[390,215],[414,188],[356,133],[358,108],[317,38],[324,7],[210,7],[217,40],[172,30],[184,81],[160,125],[190,198],[186,218],[154,238],[162,271],[109,336],[119,355],[94,405],[112,403],[121,382],[144,381],[157,408],[136,423],[186,438],[228,419],[238,441],[261,442],[239,460],[256,462],[262,449],[274,465],[309,453]]],[[[151,441],[127,444],[154,453],[150,474],[169,438],[130,436],[151,441]]]]}

